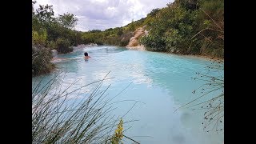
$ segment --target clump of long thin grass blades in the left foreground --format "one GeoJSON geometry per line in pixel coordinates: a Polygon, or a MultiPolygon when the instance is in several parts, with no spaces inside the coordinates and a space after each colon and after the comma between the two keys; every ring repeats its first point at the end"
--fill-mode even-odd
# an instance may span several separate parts
{"type": "Polygon", "coordinates": [[[102,89],[108,78],[71,89],[78,81],[63,87],[64,77],[57,74],[46,84],[33,84],[32,143],[110,143],[120,118],[111,113],[114,98],[106,94],[110,85],[102,89]],[[94,90],[74,97],[92,84],[94,90]]]}

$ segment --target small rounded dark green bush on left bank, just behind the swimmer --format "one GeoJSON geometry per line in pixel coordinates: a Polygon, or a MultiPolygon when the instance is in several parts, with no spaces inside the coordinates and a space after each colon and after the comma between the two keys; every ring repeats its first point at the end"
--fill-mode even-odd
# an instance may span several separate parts
{"type": "Polygon", "coordinates": [[[56,50],[60,54],[66,54],[73,51],[73,48],[70,48],[70,41],[64,38],[58,38],[56,41],[56,50]]]}

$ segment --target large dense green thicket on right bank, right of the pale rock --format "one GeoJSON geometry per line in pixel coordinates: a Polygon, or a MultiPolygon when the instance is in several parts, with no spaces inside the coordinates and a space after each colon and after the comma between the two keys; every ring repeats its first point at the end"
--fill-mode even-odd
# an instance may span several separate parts
{"type": "Polygon", "coordinates": [[[150,29],[149,35],[141,38],[146,50],[223,58],[222,0],[176,0],[167,6],[152,10],[144,21],[150,29]]]}

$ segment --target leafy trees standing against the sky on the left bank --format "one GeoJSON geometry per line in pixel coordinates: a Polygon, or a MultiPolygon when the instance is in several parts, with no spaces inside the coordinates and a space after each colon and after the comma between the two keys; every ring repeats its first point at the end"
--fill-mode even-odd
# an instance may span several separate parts
{"type": "MultiPolygon", "coordinates": [[[[34,2],[32,4],[34,5],[34,2]]],[[[78,18],[75,18],[74,14],[69,13],[61,14],[58,18],[54,18],[53,6],[49,5],[39,6],[36,12],[32,14],[33,30],[46,29],[48,41],[55,42],[58,38],[65,38],[70,41],[70,46],[78,45],[82,42],[81,32],[71,30],[77,22],[78,18]]]]}

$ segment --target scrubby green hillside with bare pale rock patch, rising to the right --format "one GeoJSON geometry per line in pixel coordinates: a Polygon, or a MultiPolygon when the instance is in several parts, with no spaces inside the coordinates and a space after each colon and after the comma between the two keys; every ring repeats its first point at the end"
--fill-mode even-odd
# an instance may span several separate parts
{"type": "Polygon", "coordinates": [[[175,0],[126,26],[84,32],[82,42],[128,47],[142,44],[151,51],[223,58],[224,1],[175,0]],[[138,37],[138,28],[143,26],[148,34],[138,37]]]}

